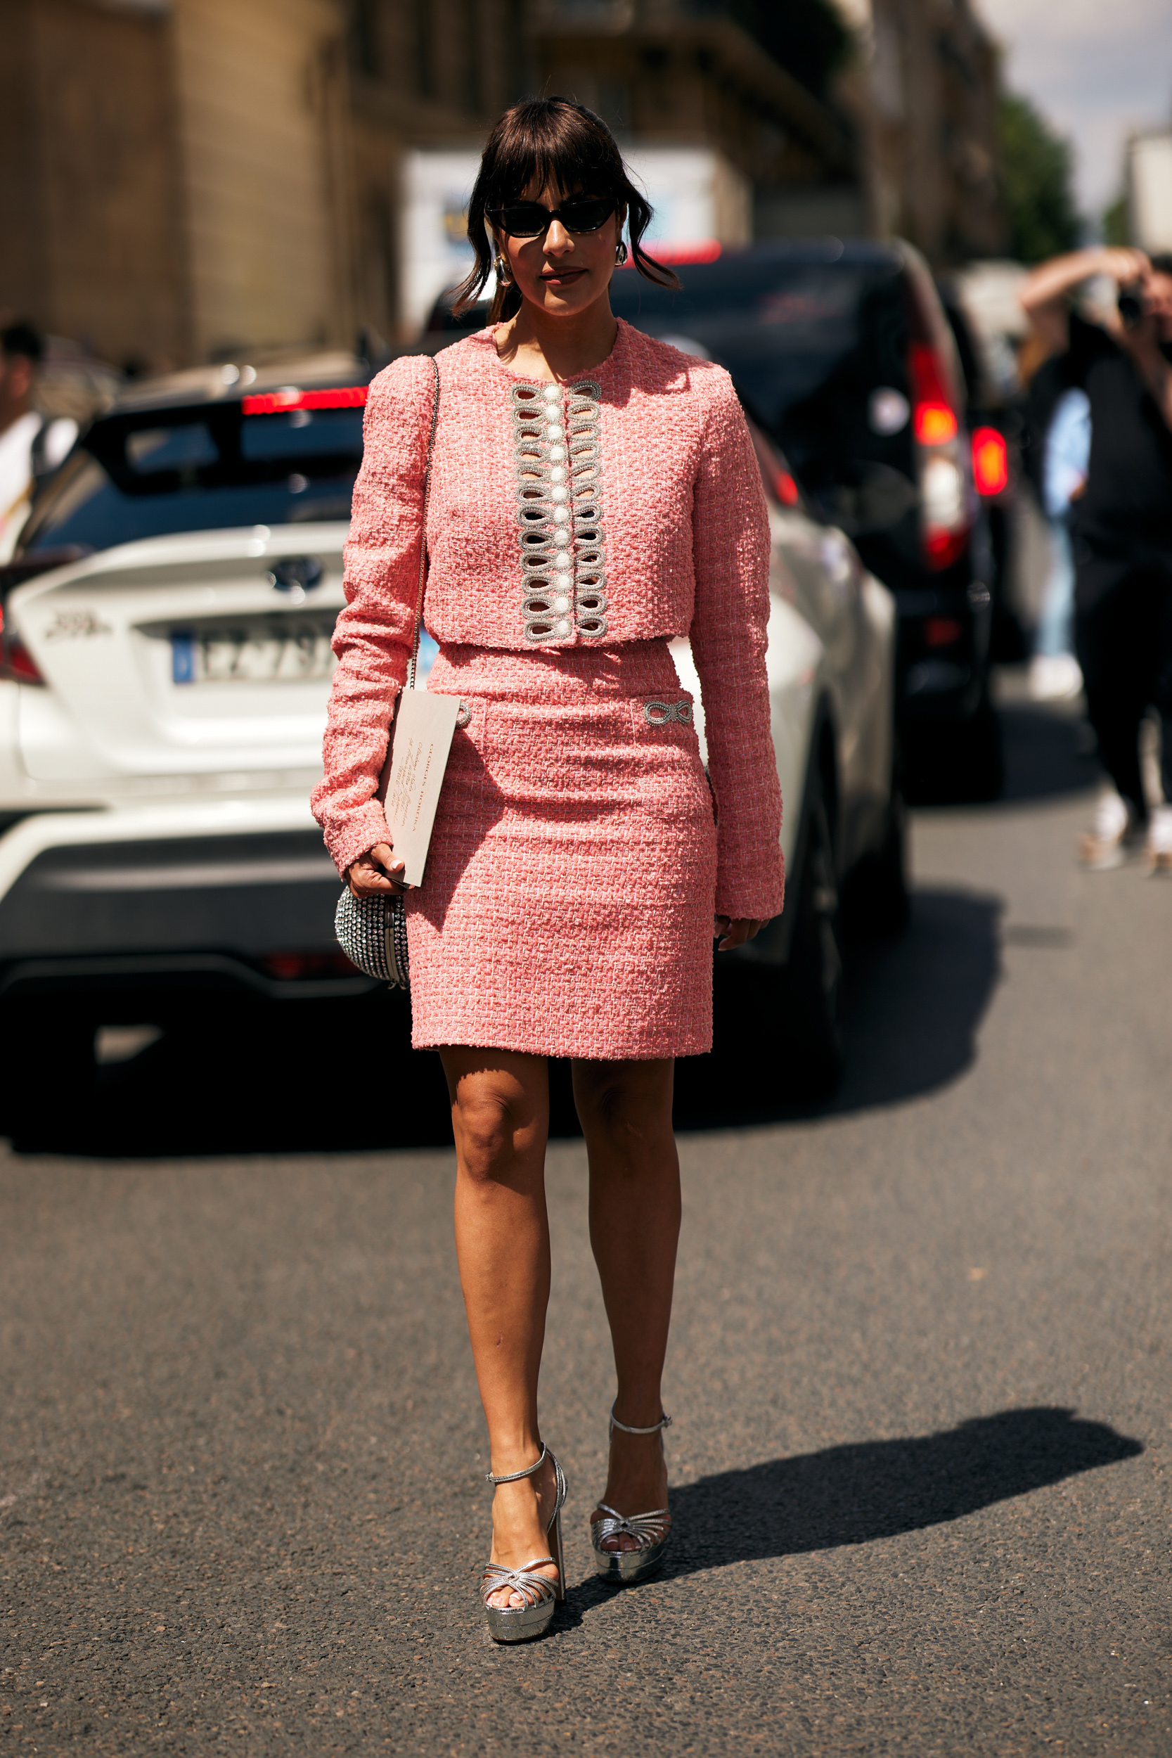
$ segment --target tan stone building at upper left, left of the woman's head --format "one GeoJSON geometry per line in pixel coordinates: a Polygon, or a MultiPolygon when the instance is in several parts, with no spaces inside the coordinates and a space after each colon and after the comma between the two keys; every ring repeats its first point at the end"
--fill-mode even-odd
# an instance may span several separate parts
{"type": "Polygon", "coordinates": [[[522,90],[518,0],[0,0],[0,309],[142,367],[397,327],[404,144],[522,90]]]}

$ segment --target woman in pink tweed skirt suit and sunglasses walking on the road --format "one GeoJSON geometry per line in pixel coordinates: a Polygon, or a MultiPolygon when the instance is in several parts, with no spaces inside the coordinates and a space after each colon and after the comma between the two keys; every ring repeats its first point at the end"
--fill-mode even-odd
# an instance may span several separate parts
{"type": "Polygon", "coordinates": [[[671,280],[640,246],[648,220],[590,111],[541,98],[496,125],[462,295],[496,262],[501,320],[441,352],[438,390],[425,357],[371,385],[315,793],[353,895],[401,890],[378,782],[425,541],[427,687],[464,707],[425,881],[406,895],[413,1044],[439,1050],[452,1095],[499,1642],[539,1635],[564,1595],[566,1480],[538,1422],[546,1058],[571,1058],[617,1369],[590,1536],[599,1573],[629,1582],[669,1531],[673,1058],[712,1042],[713,918],[733,948],[782,907],[764,496],[727,374],[611,315],[624,225],[634,265],[671,280]],[[712,789],[668,650],[678,635],[703,684],[712,789]]]}

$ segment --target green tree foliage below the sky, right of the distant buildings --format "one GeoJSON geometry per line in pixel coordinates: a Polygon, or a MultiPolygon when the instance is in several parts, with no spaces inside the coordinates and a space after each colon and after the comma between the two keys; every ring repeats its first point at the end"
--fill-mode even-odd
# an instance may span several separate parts
{"type": "Polygon", "coordinates": [[[1030,98],[1007,91],[998,107],[1002,206],[1009,250],[1019,262],[1044,262],[1075,250],[1081,236],[1074,204],[1074,155],[1030,98]]]}

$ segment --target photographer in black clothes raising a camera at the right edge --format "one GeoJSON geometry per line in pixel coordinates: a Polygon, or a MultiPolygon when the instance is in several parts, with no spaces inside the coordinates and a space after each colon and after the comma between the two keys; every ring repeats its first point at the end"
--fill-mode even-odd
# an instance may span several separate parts
{"type": "Polygon", "coordinates": [[[1091,415],[1086,489],[1075,501],[1075,647],[1091,724],[1114,789],[1081,839],[1086,867],[1118,867],[1146,837],[1153,872],[1172,872],[1172,257],[1079,250],[1021,288],[1038,339],[1091,415]],[[1109,276],[1107,323],[1070,308],[1109,276]],[[1163,805],[1149,812],[1139,730],[1154,703],[1163,730],[1163,805]]]}

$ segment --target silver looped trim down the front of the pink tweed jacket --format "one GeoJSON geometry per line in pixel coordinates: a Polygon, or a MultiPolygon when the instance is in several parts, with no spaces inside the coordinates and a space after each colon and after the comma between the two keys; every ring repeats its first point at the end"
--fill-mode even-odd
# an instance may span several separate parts
{"type": "Polygon", "coordinates": [[[511,389],[522,619],[539,645],[608,629],[601,394],[589,378],[511,389]]]}

